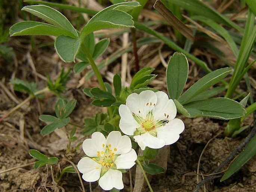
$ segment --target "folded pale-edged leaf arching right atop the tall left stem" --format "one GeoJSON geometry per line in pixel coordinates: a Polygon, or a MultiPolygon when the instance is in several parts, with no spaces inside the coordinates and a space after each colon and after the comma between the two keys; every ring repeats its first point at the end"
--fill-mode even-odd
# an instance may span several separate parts
{"type": "Polygon", "coordinates": [[[101,10],[81,30],[81,38],[97,30],[133,27],[132,16],[126,12],[137,6],[139,6],[138,2],[130,1],[117,3],[101,10]]]}

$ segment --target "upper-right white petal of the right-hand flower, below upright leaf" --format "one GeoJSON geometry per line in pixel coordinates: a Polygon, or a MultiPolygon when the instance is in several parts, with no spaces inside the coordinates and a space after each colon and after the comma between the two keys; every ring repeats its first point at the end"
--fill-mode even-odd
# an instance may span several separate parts
{"type": "Polygon", "coordinates": [[[156,92],[157,105],[154,108],[154,120],[172,120],[177,114],[175,103],[164,92],[156,92]]]}

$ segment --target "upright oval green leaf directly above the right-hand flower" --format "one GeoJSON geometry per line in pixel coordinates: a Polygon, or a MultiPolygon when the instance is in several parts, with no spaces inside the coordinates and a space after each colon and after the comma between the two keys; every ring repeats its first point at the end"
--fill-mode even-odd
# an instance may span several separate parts
{"type": "Polygon", "coordinates": [[[166,84],[169,97],[178,99],[188,78],[188,60],[182,53],[174,53],[166,69],[166,84]]]}

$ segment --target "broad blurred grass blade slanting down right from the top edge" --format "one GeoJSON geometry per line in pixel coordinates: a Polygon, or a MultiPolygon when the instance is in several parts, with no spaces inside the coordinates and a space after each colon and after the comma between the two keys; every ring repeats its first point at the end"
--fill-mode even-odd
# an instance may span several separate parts
{"type": "Polygon", "coordinates": [[[227,17],[223,16],[219,12],[217,12],[215,9],[212,9],[210,6],[207,6],[204,4],[202,1],[199,0],[161,0],[163,3],[169,2],[173,3],[179,7],[183,7],[184,9],[196,13],[198,15],[203,15],[207,18],[212,19],[213,21],[223,23],[225,25],[228,25],[229,27],[233,27],[238,31],[243,31],[243,29],[232,22],[230,19],[227,17]]]}

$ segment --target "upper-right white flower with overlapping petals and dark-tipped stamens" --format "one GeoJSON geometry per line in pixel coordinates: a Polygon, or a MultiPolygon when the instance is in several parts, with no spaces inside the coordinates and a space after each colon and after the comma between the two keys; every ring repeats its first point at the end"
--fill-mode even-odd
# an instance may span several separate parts
{"type": "Polygon", "coordinates": [[[164,92],[142,91],[132,93],[126,105],[120,105],[119,127],[133,138],[142,150],[146,146],[159,149],[175,143],[184,130],[182,120],[175,118],[176,106],[164,92]]]}

